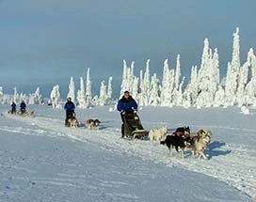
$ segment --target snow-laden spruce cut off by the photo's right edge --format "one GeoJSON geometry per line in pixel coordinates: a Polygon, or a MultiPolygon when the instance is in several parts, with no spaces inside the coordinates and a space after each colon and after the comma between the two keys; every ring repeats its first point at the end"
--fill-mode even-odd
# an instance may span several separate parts
{"type": "Polygon", "coordinates": [[[245,87],[245,94],[248,95],[248,104],[256,106],[256,56],[253,49],[248,51],[248,84],[245,87]]]}

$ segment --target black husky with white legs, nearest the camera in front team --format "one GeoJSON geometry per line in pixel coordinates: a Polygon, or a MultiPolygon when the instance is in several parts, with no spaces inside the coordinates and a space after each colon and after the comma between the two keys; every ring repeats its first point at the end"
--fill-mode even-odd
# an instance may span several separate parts
{"type": "Polygon", "coordinates": [[[172,156],[172,148],[175,148],[177,152],[179,152],[179,148],[181,148],[181,157],[184,159],[184,148],[186,147],[188,142],[190,142],[189,135],[172,134],[167,135],[166,139],[164,141],[161,141],[160,144],[166,145],[168,147],[169,156],[172,156]]]}

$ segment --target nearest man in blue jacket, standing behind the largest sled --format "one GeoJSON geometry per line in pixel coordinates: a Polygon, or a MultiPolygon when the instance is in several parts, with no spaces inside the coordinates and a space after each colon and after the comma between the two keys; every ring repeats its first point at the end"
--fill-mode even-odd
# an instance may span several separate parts
{"type": "Polygon", "coordinates": [[[137,103],[133,99],[133,97],[130,95],[129,91],[124,91],[122,98],[118,102],[118,110],[120,111],[120,117],[121,117],[121,137],[124,137],[124,114],[134,114],[137,110],[137,103]]]}

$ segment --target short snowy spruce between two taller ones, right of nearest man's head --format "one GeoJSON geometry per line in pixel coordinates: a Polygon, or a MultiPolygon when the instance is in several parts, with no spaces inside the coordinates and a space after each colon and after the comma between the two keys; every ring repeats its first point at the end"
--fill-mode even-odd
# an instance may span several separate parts
{"type": "Polygon", "coordinates": [[[159,79],[156,73],[152,75],[151,89],[149,94],[149,105],[157,106],[160,104],[159,79]]]}

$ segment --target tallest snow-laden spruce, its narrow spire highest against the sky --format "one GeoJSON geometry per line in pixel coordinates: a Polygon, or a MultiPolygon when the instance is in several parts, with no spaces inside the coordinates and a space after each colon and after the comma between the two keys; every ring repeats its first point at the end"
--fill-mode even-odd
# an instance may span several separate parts
{"type": "Polygon", "coordinates": [[[232,63],[228,64],[225,94],[226,105],[234,105],[236,102],[236,92],[239,81],[240,72],[240,43],[239,43],[239,28],[236,28],[236,32],[233,34],[232,44],[232,63]]]}

